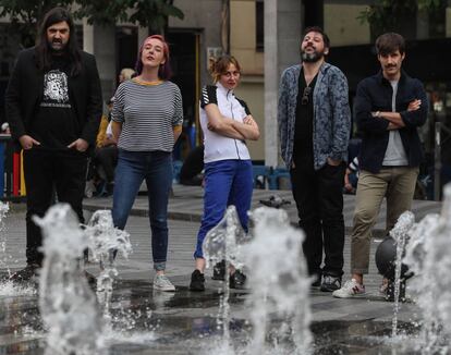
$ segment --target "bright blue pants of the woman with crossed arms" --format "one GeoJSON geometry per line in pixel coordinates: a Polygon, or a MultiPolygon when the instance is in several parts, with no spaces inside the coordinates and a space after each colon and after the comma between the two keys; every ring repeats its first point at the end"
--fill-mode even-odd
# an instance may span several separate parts
{"type": "Polygon", "coordinates": [[[241,225],[247,232],[247,211],[251,209],[252,192],[251,160],[220,160],[205,164],[204,217],[197,233],[195,258],[204,257],[204,238],[224,217],[228,206],[236,207],[241,225]]]}

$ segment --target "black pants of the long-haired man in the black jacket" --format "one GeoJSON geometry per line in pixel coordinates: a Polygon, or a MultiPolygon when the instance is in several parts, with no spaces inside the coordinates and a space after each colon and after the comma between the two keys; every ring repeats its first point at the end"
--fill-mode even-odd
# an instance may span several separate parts
{"type": "Polygon", "coordinates": [[[71,205],[83,218],[83,195],[85,192],[87,158],[85,154],[24,150],[24,175],[26,186],[26,261],[42,264],[44,255],[40,228],[33,216],[44,217],[54,201],[56,191],[59,203],[71,205]]]}

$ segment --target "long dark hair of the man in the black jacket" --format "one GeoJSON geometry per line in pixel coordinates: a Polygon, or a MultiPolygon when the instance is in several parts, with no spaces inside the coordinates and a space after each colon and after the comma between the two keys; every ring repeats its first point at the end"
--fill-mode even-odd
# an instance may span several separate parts
{"type": "Polygon", "coordinates": [[[76,41],[74,21],[72,20],[71,13],[64,8],[51,9],[42,20],[35,47],[36,64],[42,72],[51,69],[52,53],[47,41],[47,28],[59,22],[65,22],[69,25],[69,41],[65,47],[65,52],[71,62],[71,76],[75,76],[82,71],[82,54],[76,41]]]}

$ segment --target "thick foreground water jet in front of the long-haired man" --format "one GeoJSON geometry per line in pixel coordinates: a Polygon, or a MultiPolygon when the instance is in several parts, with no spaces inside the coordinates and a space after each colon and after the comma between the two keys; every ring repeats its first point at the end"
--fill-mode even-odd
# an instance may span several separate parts
{"type": "Polygon", "coordinates": [[[42,230],[46,256],[39,280],[39,308],[48,329],[46,354],[100,354],[102,320],[78,266],[89,241],[68,204],[52,206],[34,221],[42,230]]]}

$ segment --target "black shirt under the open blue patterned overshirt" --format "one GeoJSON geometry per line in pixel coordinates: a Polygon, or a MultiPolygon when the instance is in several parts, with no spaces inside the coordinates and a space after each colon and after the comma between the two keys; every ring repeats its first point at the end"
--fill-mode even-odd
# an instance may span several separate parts
{"type": "Polygon", "coordinates": [[[295,161],[301,158],[313,157],[313,93],[317,76],[314,77],[307,87],[304,71],[301,70],[300,73],[293,147],[293,159],[295,161]]]}

